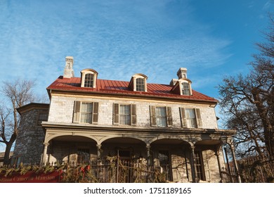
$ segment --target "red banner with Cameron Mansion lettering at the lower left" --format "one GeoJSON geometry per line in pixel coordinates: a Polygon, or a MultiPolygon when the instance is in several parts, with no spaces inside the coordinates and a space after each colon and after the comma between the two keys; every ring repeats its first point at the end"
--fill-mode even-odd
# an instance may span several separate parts
{"type": "Polygon", "coordinates": [[[0,183],[57,183],[60,181],[60,172],[35,173],[27,172],[26,174],[13,173],[4,177],[0,174],[0,183]]]}

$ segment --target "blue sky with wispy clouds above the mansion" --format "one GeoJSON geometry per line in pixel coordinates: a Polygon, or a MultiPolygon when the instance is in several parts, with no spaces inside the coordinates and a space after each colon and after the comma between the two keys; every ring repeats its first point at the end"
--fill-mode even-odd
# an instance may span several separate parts
{"type": "Polygon", "coordinates": [[[65,56],[100,79],[169,84],[188,68],[193,89],[218,98],[224,75],[246,73],[268,26],[269,0],[0,0],[1,81],[63,75],[65,56]]]}

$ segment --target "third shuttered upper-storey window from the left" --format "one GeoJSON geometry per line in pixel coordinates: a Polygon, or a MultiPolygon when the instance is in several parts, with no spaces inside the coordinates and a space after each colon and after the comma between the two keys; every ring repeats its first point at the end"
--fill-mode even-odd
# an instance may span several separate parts
{"type": "Polygon", "coordinates": [[[171,108],[163,106],[150,106],[150,123],[152,127],[172,126],[171,108]]]}

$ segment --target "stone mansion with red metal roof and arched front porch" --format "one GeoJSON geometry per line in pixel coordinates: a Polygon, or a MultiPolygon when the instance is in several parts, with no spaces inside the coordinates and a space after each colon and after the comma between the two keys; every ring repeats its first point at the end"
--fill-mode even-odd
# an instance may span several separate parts
{"type": "Polygon", "coordinates": [[[100,80],[93,69],[74,77],[73,58],[47,88],[50,104],[18,108],[20,132],[14,163],[96,163],[107,155],[142,156],[162,167],[172,182],[220,182],[225,167],[218,129],[218,101],[192,89],[186,68],[170,84],[100,80]]]}

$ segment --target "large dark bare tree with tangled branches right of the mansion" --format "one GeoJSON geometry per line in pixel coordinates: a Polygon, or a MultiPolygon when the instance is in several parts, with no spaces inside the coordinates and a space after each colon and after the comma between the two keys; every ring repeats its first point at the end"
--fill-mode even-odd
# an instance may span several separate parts
{"type": "Polygon", "coordinates": [[[252,70],[246,76],[225,77],[218,86],[221,107],[227,115],[226,126],[237,129],[236,145],[242,154],[274,155],[274,23],[266,43],[257,43],[252,70]]]}

